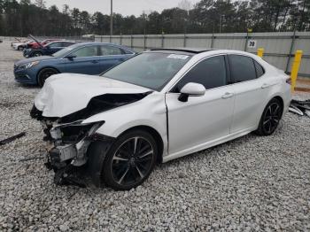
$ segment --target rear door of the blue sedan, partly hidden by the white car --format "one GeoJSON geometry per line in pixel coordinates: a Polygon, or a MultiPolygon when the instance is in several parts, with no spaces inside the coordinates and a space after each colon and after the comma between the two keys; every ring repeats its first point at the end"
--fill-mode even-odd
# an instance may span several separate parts
{"type": "Polygon", "coordinates": [[[101,45],[99,61],[100,73],[105,72],[112,66],[119,65],[131,56],[133,55],[125,54],[125,52],[118,47],[112,45],[101,45]]]}

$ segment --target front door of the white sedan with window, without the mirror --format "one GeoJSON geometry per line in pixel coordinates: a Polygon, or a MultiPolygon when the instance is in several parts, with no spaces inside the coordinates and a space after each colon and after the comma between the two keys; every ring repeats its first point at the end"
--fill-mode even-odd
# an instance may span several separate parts
{"type": "Polygon", "coordinates": [[[169,153],[189,150],[229,135],[234,108],[234,89],[229,82],[227,58],[205,58],[186,73],[166,95],[169,153]],[[188,82],[205,86],[205,96],[178,100],[188,82]]]}

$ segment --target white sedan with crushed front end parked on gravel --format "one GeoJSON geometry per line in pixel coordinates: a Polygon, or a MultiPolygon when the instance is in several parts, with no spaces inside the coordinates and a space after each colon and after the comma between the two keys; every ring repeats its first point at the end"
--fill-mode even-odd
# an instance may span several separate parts
{"type": "Polygon", "coordinates": [[[256,131],[288,111],[291,80],[236,50],[149,50],[101,76],[51,76],[31,116],[55,182],[84,166],[97,186],[131,189],[154,166],[256,131]]]}

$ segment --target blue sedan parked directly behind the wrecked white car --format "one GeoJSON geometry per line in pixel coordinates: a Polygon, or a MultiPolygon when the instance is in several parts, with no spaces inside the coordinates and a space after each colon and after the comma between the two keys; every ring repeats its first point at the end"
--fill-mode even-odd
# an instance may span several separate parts
{"type": "Polygon", "coordinates": [[[57,73],[97,75],[135,55],[135,51],[112,43],[76,43],[50,57],[19,60],[14,64],[15,81],[43,86],[57,73]]]}

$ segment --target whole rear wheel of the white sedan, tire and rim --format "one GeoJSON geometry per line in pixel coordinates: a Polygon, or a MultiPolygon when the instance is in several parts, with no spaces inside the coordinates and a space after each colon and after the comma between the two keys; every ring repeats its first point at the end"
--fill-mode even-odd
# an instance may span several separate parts
{"type": "Polygon", "coordinates": [[[260,126],[255,131],[257,135],[272,135],[278,127],[283,115],[283,104],[279,99],[273,98],[268,102],[260,118],[260,126]]]}

